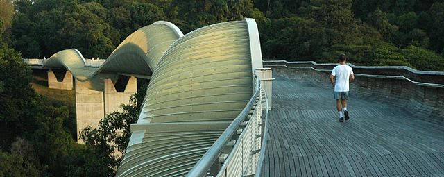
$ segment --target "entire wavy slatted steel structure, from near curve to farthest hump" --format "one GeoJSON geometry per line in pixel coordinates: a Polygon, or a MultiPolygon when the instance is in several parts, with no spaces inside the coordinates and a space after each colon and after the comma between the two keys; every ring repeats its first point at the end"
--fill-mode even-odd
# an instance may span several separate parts
{"type": "Polygon", "coordinates": [[[99,69],[85,67],[76,49],[44,67],[65,67],[92,90],[119,74],[151,76],[117,176],[184,176],[252,99],[262,56],[254,19],[187,35],[155,22],[127,37],[99,69]]]}

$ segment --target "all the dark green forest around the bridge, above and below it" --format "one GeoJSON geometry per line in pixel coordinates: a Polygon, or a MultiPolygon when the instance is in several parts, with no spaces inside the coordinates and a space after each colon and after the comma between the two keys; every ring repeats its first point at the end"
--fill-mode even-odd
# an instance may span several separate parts
{"type": "Polygon", "coordinates": [[[114,151],[129,137],[114,131],[136,120],[144,89],[76,144],[73,110],[35,93],[22,58],[71,48],[107,58],[158,20],[189,33],[254,18],[264,60],[336,62],[346,53],[355,65],[444,71],[444,0],[0,0],[0,8],[0,176],[113,176],[114,151]]]}

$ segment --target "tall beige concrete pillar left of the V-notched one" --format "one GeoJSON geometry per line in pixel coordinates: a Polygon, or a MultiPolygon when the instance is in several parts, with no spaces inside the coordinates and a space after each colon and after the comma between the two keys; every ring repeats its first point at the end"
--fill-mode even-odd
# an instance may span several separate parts
{"type": "Polygon", "coordinates": [[[85,87],[87,82],[76,80],[76,119],[77,119],[77,142],[80,140],[80,131],[91,126],[97,128],[99,121],[105,117],[103,108],[103,92],[90,90],[85,87]]]}

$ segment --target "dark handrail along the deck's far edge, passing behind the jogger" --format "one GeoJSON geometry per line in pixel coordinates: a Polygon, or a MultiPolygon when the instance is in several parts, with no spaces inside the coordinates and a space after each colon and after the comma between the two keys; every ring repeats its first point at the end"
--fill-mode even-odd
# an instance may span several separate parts
{"type": "MultiPolygon", "coordinates": [[[[268,66],[268,67],[287,67],[287,68],[296,68],[296,69],[313,69],[315,71],[332,71],[330,69],[316,69],[314,67],[289,67],[287,65],[266,65],[266,66],[268,66]]],[[[417,81],[411,80],[410,78],[406,78],[404,76],[388,76],[388,75],[375,75],[375,74],[355,74],[355,76],[363,76],[363,77],[370,77],[370,78],[401,79],[401,80],[409,81],[409,82],[416,84],[416,85],[422,85],[422,86],[427,86],[427,87],[441,87],[441,88],[444,87],[443,84],[417,82],[417,81]]]]}

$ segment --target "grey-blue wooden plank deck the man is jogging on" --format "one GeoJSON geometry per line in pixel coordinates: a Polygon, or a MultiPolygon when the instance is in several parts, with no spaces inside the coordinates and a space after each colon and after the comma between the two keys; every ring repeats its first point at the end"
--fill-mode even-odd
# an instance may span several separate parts
{"type": "Polygon", "coordinates": [[[350,94],[350,120],[332,88],[277,78],[264,176],[444,176],[444,126],[350,94]]]}

